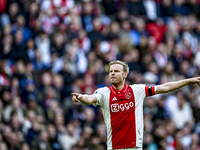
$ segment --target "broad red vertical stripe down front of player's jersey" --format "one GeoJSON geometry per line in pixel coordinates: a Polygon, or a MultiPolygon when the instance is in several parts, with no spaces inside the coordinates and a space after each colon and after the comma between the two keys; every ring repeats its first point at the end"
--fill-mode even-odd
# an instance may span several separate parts
{"type": "MultiPolygon", "coordinates": [[[[111,88],[110,88],[111,89],[111,88]]],[[[110,90],[112,148],[136,146],[135,98],[130,86],[123,92],[110,90]]]]}

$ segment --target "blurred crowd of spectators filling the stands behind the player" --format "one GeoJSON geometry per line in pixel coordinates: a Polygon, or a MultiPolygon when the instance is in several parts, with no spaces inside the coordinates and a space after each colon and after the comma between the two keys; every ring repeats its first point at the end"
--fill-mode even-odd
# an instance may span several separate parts
{"type": "MultiPolygon", "coordinates": [[[[71,92],[200,75],[200,0],[1,0],[0,149],[106,150],[100,107],[71,92]]],[[[145,150],[200,150],[200,88],[144,102],[145,150]]],[[[127,137],[128,138],[128,137],[127,137]]]]}

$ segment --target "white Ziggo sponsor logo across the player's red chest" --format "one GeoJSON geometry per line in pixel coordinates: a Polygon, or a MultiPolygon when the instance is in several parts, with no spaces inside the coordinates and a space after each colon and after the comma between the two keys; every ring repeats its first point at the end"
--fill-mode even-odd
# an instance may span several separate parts
{"type": "Polygon", "coordinates": [[[125,103],[125,104],[115,103],[115,104],[111,105],[111,111],[112,112],[118,112],[118,111],[129,110],[133,106],[134,106],[133,102],[125,103]]]}

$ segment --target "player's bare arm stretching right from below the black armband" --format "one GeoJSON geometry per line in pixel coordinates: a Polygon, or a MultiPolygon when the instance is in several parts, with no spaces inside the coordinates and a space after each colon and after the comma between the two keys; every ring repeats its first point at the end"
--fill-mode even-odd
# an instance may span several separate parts
{"type": "Polygon", "coordinates": [[[183,80],[179,80],[175,82],[168,82],[168,83],[158,85],[157,90],[155,91],[155,94],[171,92],[183,86],[186,86],[188,84],[193,84],[193,83],[197,83],[200,86],[200,77],[183,79],[183,80]]]}

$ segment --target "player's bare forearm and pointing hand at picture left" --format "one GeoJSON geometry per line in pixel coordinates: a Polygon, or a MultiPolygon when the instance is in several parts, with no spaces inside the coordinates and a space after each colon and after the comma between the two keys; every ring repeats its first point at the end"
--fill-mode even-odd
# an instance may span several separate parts
{"type": "Polygon", "coordinates": [[[72,93],[72,100],[74,102],[81,102],[83,104],[90,105],[97,102],[97,98],[94,95],[72,93]]]}

